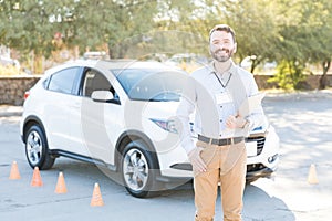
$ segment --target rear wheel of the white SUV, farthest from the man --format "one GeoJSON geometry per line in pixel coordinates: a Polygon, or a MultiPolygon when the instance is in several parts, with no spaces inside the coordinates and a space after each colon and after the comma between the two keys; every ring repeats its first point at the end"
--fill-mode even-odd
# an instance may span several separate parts
{"type": "Polygon", "coordinates": [[[27,133],[25,155],[32,168],[50,169],[55,161],[50,155],[46,136],[38,125],[30,127],[27,133]]]}

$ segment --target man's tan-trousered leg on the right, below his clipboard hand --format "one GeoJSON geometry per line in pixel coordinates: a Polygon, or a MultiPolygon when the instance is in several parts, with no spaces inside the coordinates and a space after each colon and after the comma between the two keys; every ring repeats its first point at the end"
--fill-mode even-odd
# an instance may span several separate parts
{"type": "MultiPolygon", "coordinates": [[[[243,146],[245,143],[237,145],[243,146]]],[[[229,151],[232,151],[231,148],[235,148],[235,146],[230,147],[229,151]]],[[[245,146],[243,148],[238,147],[236,147],[236,149],[241,150],[239,151],[239,158],[234,167],[220,177],[224,221],[241,220],[241,211],[243,207],[242,198],[246,186],[247,152],[245,146]]]]}

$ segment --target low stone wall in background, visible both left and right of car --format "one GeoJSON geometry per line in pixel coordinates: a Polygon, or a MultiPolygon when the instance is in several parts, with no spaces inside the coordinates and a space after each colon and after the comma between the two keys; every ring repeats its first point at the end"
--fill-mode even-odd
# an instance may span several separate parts
{"type": "MultiPolygon", "coordinates": [[[[277,83],[269,83],[272,75],[255,75],[259,90],[278,88],[277,83]]],[[[315,90],[319,86],[319,75],[310,75],[303,82],[303,88],[315,90]]],[[[0,76],[0,105],[22,105],[24,93],[29,91],[40,78],[40,76],[0,76]]],[[[329,87],[332,87],[332,75],[328,75],[329,87]]]]}

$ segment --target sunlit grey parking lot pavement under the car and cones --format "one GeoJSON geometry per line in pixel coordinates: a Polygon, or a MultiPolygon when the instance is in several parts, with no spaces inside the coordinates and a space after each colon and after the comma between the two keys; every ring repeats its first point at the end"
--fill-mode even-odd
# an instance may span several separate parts
{"type": "MultiPolygon", "coordinates": [[[[271,179],[246,187],[243,220],[330,220],[332,92],[270,93],[263,107],[280,136],[280,165],[271,179]],[[307,181],[311,164],[317,168],[318,185],[307,181]]],[[[136,199],[97,167],[71,159],[56,160],[51,170],[41,171],[44,185],[30,187],[32,169],[19,135],[21,108],[0,109],[0,220],[194,220],[190,185],[157,198],[136,199]],[[19,165],[19,180],[8,178],[13,160],[19,165]],[[59,171],[65,177],[65,194],[54,193],[59,171]],[[95,182],[101,186],[104,207],[90,206],[95,182]]],[[[220,199],[215,220],[222,220],[220,199]]]]}

